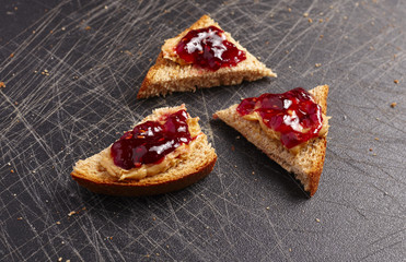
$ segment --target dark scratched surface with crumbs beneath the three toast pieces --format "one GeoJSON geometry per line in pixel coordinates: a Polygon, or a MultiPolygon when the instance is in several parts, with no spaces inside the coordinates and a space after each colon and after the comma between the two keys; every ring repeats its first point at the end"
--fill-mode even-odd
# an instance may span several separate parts
{"type": "Polygon", "coordinates": [[[405,28],[402,0],[0,0],[0,260],[405,261],[405,28]],[[163,40],[205,13],[278,79],[137,100],[163,40]],[[308,199],[211,115],[318,84],[333,119],[308,199]],[[141,199],[71,180],[78,159],[182,103],[219,155],[206,179],[141,199]]]}

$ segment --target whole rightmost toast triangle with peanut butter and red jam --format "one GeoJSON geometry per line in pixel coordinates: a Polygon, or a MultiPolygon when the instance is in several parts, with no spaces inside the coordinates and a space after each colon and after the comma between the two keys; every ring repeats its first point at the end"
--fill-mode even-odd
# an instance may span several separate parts
{"type": "Polygon", "coordinates": [[[266,93],[243,99],[213,117],[237,130],[301,181],[312,196],[318,187],[328,132],[328,85],[266,93]]]}

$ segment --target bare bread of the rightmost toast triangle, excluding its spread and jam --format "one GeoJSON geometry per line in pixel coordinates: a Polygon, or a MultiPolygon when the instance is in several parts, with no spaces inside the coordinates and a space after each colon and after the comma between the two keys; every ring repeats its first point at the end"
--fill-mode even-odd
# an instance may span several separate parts
{"type": "MultiPolygon", "coordinates": [[[[315,102],[322,107],[322,112],[327,111],[328,85],[320,85],[311,91],[315,102]]],[[[250,121],[242,118],[236,112],[235,104],[224,110],[217,111],[214,118],[220,118],[227,124],[237,130],[251,143],[262,150],[268,157],[301,181],[304,190],[312,196],[318,187],[318,180],[323,171],[324,158],[326,154],[326,135],[315,138],[301,147],[297,155],[287,150],[279,140],[269,138],[260,128],[258,121],[250,121]]]]}

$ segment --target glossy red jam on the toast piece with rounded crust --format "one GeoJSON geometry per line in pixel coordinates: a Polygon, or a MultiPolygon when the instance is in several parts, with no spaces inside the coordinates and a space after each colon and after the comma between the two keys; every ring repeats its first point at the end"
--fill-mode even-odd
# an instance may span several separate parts
{"type": "Polygon", "coordinates": [[[111,148],[114,164],[124,169],[142,164],[159,164],[182,144],[192,141],[186,122],[188,115],[182,109],[169,115],[165,123],[147,121],[126,132],[111,148]]]}

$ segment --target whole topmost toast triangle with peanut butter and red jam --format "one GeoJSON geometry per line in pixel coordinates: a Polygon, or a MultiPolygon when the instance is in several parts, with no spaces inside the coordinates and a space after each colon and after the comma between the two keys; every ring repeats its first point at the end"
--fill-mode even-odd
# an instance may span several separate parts
{"type": "Polygon", "coordinates": [[[255,81],[264,76],[277,75],[218,23],[204,15],[178,36],[165,41],[137,97],[236,85],[244,80],[255,81]]]}

